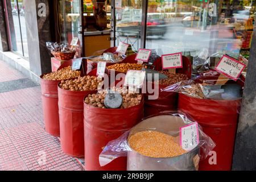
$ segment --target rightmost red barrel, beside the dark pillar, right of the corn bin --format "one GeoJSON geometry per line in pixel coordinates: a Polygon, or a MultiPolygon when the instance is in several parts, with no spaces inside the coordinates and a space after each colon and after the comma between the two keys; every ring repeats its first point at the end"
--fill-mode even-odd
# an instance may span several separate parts
{"type": "MultiPolygon", "coordinates": [[[[216,143],[213,151],[216,152],[217,163],[213,158],[202,160],[200,170],[230,170],[234,142],[236,137],[238,113],[241,100],[205,100],[179,94],[178,109],[191,115],[207,134],[216,143]]],[[[214,154],[212,154],[214,155],[214,154]]]]}

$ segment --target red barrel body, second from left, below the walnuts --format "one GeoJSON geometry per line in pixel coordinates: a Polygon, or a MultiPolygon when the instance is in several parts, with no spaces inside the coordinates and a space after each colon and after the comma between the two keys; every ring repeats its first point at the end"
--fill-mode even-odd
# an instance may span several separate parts
{"type": "Polygon", "coordinates": [[[69,91],[58,87],[60,144],[70,156],[84,156],[84,96],[97,91],[69,91]]]}

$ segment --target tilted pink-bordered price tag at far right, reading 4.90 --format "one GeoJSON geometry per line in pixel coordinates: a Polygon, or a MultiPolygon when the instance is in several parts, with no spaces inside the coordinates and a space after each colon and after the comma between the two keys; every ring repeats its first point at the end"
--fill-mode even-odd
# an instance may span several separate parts
{"type": "Polygon", "coordinates": [[[240,63],[240,61],[237,61],[232,57],[224,55],[221,57],[221,60],[218,62],[215,69],[216,71],[222,73],[226,77],[229,77],[234,81],[237,81],[237,78],[240,77],[245,67],[246,65],[240,63]]]}

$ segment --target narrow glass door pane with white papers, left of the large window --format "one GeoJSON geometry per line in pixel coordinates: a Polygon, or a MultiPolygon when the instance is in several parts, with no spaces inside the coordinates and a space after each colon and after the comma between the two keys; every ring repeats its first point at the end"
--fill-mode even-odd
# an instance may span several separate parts
{"type": "Polygon", "coordinates": [[[119,42],[131,44],[133,51],[141,46],[142,0],[122,0],[115,3],[115,36],[119,42]]]}

